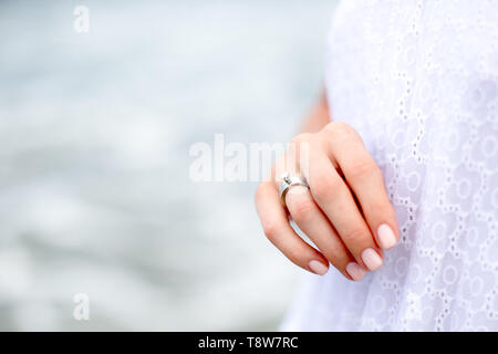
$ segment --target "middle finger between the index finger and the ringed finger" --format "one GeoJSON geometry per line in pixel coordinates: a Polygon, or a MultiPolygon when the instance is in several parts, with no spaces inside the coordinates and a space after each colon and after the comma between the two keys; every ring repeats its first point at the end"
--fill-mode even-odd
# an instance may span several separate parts
{"type": "Polygon", "coordinates": [[[382,251],[361,215],[350,188],[325,152],[313,149],[307,176],[313,199],[332,222],[359,264],[370,271],[382,266],[382,251]]]}

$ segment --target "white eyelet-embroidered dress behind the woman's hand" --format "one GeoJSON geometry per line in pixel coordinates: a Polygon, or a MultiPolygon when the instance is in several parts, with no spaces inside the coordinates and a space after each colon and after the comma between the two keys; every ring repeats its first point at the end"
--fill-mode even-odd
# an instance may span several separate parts
{"type": "Polygon", "coordinates": [[[498,331],[498,1],[342,1],[325,84],[401,242],[360,282],[305,275],[281,329],[498,331]]]}

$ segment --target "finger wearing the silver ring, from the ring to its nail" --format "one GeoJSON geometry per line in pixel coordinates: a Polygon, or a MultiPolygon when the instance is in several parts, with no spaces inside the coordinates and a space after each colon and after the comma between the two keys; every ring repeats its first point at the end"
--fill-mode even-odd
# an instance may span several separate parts
{"type": "Polygon", "coordinates": [[[361,280],[365,275],[365,270],[350,254],[307,187],[292,187],[286,195],[286,204],[298,227],[344,277],[361,280]]]}

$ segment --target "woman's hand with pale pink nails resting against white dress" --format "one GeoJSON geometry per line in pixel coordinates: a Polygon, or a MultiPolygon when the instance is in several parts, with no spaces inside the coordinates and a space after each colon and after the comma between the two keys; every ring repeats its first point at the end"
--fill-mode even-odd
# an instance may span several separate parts
{"type": "Polygon", "coordinates": [[[258,187],[256,207],[268,239],[292,262],[321,275],[330,262],[360,280],[382,266],[382,249],[398,240],[382,173],[359,134],[342,122],[294,137],[271,178],[258,187]],[[302,175],[310,186],[291,187],[287,208],[276,178],[283,171],[302,175]],[[318,250],[294,232],[288,212],[318,250]]]}

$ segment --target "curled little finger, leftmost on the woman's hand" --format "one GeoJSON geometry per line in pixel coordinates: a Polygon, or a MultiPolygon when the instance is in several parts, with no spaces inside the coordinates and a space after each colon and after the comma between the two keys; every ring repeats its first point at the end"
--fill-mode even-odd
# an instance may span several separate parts
{"type": "Polygon", "coordinates": [[[256,209],[264,235],[289,260],[319,275],[328,272],[326,258],[304,242],[291,228],[273,183],[263,181],[258,187],[256,209]]]}

